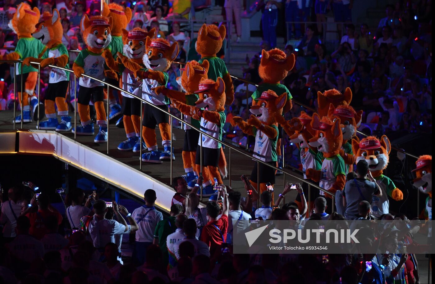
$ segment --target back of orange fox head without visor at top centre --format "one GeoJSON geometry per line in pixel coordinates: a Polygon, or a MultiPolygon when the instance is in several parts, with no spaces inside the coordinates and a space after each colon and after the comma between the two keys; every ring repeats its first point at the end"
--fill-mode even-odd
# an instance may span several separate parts
{"type": "Polygon", "coordinates": [[[227,34],[224,25],[220,27],[215,25],[202,25],[198,31],[198,39],[195,43],[195,49],[201,57],[214,57],[221,50],[222,42],[227,34]]]}

